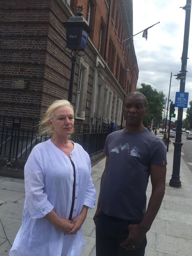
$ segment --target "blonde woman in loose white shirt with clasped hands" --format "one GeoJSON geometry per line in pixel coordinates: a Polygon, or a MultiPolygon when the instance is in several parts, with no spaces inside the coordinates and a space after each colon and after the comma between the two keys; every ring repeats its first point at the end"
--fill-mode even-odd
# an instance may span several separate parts
{"type": "Polygon", "coordinates": [[[70,141],[73,107],[53,102],[40,123],[51,139],[37,144],[24,168],[23,220],[10,256],[79,256],[85,240],[82,224],[95,207],[89,155],[70,141]]]}

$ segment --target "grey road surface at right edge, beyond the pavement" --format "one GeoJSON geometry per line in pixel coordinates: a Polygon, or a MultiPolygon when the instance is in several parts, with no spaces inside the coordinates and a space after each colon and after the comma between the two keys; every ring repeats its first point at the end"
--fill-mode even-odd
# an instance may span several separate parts
{"type": "MultiPolygon", "coordinates": [[[[172,138],[172,140],[174,141],[174,138],[172,138]]],[[[187,167],[192,172],[192,140],[187,140],[185,133],[182,134],[182,143],[181,156],[187,167]]]]}

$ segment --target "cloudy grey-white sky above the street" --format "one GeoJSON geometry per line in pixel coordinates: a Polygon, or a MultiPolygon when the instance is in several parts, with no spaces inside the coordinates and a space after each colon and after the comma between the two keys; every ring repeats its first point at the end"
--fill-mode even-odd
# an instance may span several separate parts
{"type": "MultiPolygon", "coordinates": [[[[148,40],[142,38],[142,33],[133,37],[139,80],[151,84],[158,91],[162,90],[168,98],[170,75],[181,70],[181,55],[183,51],[183,35],[185,25],[185,10],[179,7],[186,5],[186,0],[133,0],[133,34],[144,30],[160,21],[148,30],[148,40]]],[[[192,100],[192,17],[187,61],[187,78],[185,91],[192,100]]],[[[170,98],[175,102],[175,92],[179,91],[180,82],[172,77],[170,98]]],[[[188,104],[189,106],[189,104],[188,104]]],[[[176,119],[177,119],[176,108],[176,119]]],[[[183,109],[183,118],[187,108],[183,109]]],[[[176,119],[172,119],[175,121],[176,119]]]]}

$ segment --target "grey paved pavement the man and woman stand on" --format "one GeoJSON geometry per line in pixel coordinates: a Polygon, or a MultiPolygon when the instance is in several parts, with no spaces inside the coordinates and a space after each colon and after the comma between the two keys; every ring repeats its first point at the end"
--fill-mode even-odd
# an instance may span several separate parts
{"type": "MultiPolygon", "coordinates": [[[[162,134],[158,134],[162,136],[162,134]]],[[[192,255],[192,173],[181,158],[180,180],[182,188],[169,186],[172,174],[173,145],[167,153],[166,189],[161,208],[147,233],[145,256],[191,256],[192,255]]],[[[92,179],[97,193],[105,158],[92,168],[92,179]]],[[[147,188],[147,202],[151,196],[151,181],[147,188]]],[[[21,226],[25,200],[24,180],[0,176],[0,255],[8,256],[11,245],[21,226]]],[[[86,245],[81,256],[95,256],[95,209],[89,209],[83,224],[86,245]]],[[[106,255],[110,256],[110,255],[106,255]]]]}

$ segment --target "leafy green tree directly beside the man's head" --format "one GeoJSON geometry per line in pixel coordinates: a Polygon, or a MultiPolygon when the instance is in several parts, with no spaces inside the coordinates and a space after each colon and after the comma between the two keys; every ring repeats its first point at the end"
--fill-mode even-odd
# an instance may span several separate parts
{"type": "Polygon", "coordinates": [[[153,89],[150,84],[141,83],[141,88],[137,91],[141,92],[147,98],[147,114],[143,119],[143,125],[151,125],[153,119],[154,126],[161,123],[162,111],[165,105],[165,94],[163,91],[157,91],[153,89]]]}

